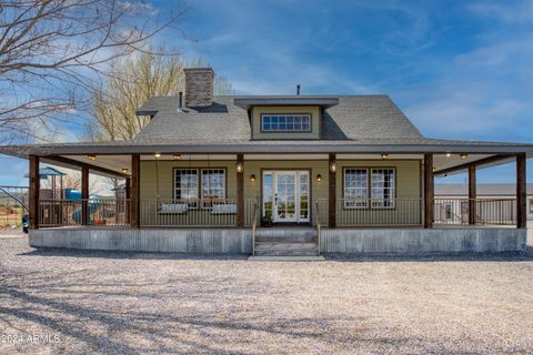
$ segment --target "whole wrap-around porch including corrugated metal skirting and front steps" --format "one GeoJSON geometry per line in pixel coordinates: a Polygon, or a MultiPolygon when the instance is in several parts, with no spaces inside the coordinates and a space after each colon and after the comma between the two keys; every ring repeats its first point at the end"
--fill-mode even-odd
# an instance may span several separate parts
{"type": "Polygon", "coordinates": [[[31,155],[30,239],[36,246],[251,254],[280,241],[313,254],[523,247],[526,155],[31,155]],[[477,197],[476,170],[510,161],[516,197],[477,197]],[[79,166],[81,199],[42,199],[41,162],[79,166]],[[434,176],[462,170],[469,196],[435,197],[434,176]],[[122,194],[90,197],[90,173],[122,179],[122,194]]]}

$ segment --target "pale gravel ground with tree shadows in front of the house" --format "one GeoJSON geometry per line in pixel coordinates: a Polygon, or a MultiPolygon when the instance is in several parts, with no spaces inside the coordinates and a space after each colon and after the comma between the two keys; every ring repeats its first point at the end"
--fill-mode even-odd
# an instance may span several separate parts
{"type": "Polygon", "coordinates": [[[0,239],[0,353],[531,353],[533,250],[248,262],[0,239]]]}

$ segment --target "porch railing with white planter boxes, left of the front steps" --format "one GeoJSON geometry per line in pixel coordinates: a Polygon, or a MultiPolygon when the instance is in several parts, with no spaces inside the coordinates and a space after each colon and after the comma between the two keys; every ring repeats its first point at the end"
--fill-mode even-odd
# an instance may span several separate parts
{"type": "MultiPolygon", "coordinates": [[[[253,224],[255,200],[244,201],[244,225],[253,224]]],[[[237,200],[141,200],[141,226],[235,226],[237,200]]]]}

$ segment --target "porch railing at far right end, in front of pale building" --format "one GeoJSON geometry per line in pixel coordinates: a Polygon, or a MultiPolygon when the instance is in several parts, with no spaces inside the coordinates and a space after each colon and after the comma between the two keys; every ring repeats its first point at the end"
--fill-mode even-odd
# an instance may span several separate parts
{"type": "Polygon", "coordinates": [[[435,199],[435,225],[516,225],[516,199],[435,199]]]}

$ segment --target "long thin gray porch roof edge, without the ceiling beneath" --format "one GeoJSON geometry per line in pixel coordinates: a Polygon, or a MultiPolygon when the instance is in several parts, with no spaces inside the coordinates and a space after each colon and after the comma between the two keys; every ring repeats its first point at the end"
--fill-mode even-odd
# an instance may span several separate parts
{"type": "Polygon", "coordinates": [[[312,140],[181,140],[169,144],[161,141],[143,142],[74,142],[54,144],[3,145],[0,153],[27,158],[28,155],[83,155],[83,154],[153,154],[159,153],[481,153],[481,154],[533,154],[533,144],[513,142],[452,141],[426,138],[359,139],[343,141],[312,140]]]}

